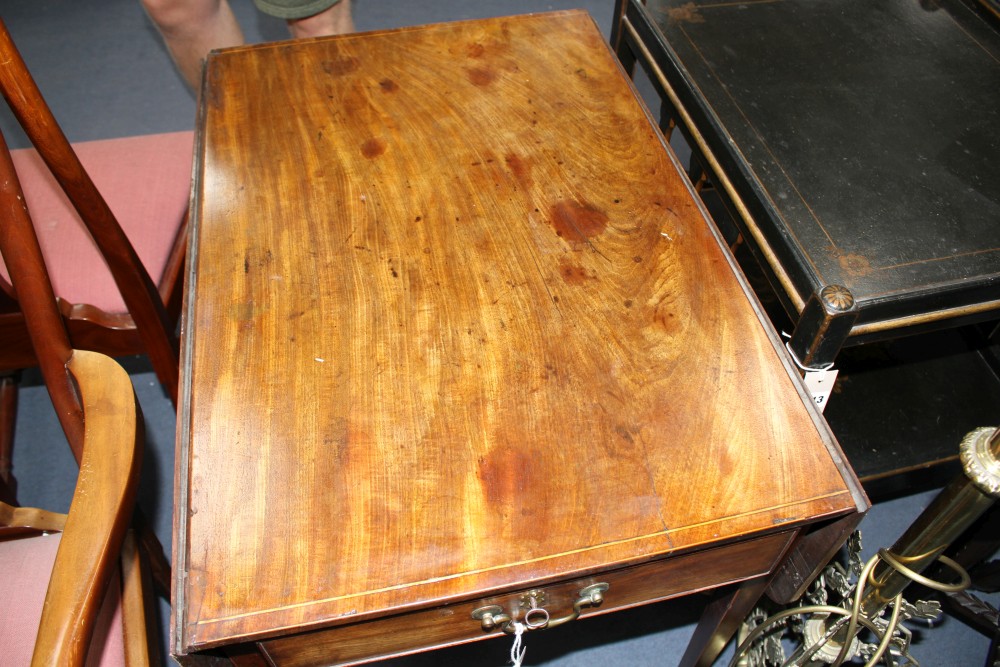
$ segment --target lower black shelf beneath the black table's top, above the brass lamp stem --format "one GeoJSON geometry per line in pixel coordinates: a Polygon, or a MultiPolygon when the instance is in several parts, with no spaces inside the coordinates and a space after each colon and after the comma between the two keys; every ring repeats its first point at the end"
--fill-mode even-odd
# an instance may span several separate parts
{"type": "Polygon", "coordinates": [[[937,331],[838,356],[824,416],[873,499],[946,484],[960,474],[965,434],[1000,424],[1000,378],[975,334],[937,331]]]}

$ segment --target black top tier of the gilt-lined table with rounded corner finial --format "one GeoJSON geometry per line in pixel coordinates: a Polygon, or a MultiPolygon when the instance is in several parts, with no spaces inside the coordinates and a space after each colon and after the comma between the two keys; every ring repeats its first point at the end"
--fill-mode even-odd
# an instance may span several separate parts
{"type": "Polygon", "coordinates": [[[636,62],[794,321],[849,342],[1000,315],[1000,19],[958,0],[617,0],[636,62]]]}

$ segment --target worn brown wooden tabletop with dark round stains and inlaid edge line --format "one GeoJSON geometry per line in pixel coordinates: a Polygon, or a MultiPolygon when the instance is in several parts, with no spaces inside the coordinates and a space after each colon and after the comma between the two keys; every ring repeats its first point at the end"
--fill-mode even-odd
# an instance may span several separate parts
{"type": "Polygon", "coordinates": [[[179,653],[865,506],[582,12],[213,54],[179,653]]]}

